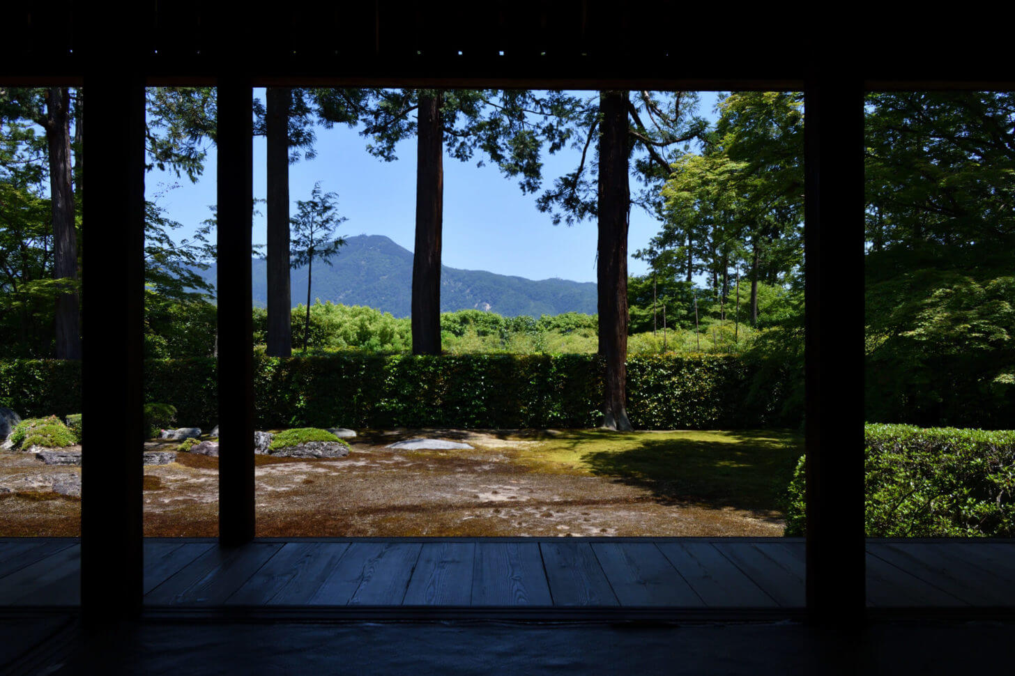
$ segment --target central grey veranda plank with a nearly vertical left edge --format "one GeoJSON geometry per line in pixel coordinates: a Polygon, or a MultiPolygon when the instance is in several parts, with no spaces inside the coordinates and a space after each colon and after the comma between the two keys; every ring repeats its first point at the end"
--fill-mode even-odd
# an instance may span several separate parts
{"type": "Polygon", "coordinates": [[[477,542],[473,606],[549,606],[543,557],[536,542],[477,542]]]}

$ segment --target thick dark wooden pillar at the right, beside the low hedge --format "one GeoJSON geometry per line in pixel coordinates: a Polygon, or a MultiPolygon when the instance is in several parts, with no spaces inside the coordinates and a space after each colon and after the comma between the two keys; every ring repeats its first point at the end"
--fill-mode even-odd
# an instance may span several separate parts
{"type": "Polygon", "coordinates": [[[807,608],[864,616],[864,97],[859,78],[806,84],[807,608]]]}

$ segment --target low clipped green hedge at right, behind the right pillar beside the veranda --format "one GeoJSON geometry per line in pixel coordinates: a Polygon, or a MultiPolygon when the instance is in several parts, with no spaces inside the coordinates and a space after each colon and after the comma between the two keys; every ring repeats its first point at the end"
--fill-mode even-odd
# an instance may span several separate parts
{"type": "MultiPolygon", "coordinates": [[[[1015,430],[869,424],[864,448],[869,537],[1015,537],[1015,430]]],[[[786,535],[804,535],[803,462],[786,535]]]]}

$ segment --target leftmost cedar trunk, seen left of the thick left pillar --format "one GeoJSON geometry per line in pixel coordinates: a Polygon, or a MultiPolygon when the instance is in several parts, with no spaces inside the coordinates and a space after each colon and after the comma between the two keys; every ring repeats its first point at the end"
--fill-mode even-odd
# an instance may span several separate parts
{"type": "MultiPolygon", "coordinates": [[[[50,195],[53,198],[53,277],[77,281],[77,232],[74,230],[73,172],[70,163],[70,90],[50,87],[46,93],[46,139],[50,150],[50,195]]],[[[56,356],[81,358],[77,293],[56,300],[56,356]]]]}

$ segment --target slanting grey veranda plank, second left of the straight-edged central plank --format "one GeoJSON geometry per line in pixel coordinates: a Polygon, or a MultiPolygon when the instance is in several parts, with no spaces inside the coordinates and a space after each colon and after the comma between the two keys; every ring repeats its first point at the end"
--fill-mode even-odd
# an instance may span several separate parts
{"type": "MultiPolygon", "coordinates": [[[[408,586],[409,578],[412,574],[412,562],[406,563],[407,559],[419,556],[419,543],[399,543],[388,542],[353,542],[349,545],[345,555],[336,565],[328,571],[321,587],[314,593],[310,601],[311,605],[344,606],[353,601],[353,597],[359,587],[367,580],[373,579],[369,588],[364,590],[363,595],[357,599],[362,603],[362,599],[377,598],[378,594],[387,592],[393,594],[389,587],[385,590],[383,581],[378,580],[379,570],[391,570],[393,574],[401,574],[397,569],[398,565],[408,566],[404,570],[404,586],[402,596],[405,595],[405,588],[408,586]],[[385,560],[387,558],[387,560],[385,560]],[[391,567],[390,567],[391,566],[391,567]]],[[[413,559],[414,560],[414,559],[413,559]]],[[[399,578],[401,580],[401,578],[399,578]]],[[[401,603],[401,596],[399,603],[401,603]]]]}

